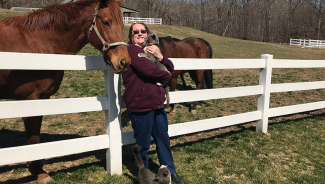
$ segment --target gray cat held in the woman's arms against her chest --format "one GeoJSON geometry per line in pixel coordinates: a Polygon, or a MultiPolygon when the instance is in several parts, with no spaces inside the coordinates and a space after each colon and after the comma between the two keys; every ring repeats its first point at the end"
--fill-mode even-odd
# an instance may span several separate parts
{"type": "MultiPolygon", "coordinates": [[[[151,45],[157,45],[159,47],[159,38],[158,36],[156,35],[156,33],[153,33],[153,34],[149,34],[145,39],[144,39],[145,43],[144,43],[144,52],[145,53],[139,53],[138,54],[138,57],[139,58],[146,58],[148,59],[155,67],[157,67],[158,69],[160,70],[163,70],[163,71],[167,71],[167,68],[165,67],[165,65],[163,65],[162,63],[159,62],[159,59],[156,58],[153,54],[150,54],[146,51],[146,47],[147,46],[151,46],[151,45]]],[[[166,90],[166,98],[167,98],[167,105],[166,107],[169,106],[169,92],[168,92],[168,86],[167,86],[167,82],[157,82],[157,86],[163,86],[166,90]]]]}

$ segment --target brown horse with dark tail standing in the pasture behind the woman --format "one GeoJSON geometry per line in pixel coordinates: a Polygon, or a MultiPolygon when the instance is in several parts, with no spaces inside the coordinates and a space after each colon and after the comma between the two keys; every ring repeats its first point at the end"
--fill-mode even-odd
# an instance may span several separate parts
{"type": "MultiPolygon", "coordinates": [[[[159,48],[161,53],[168,58],[212,58],[212,48],[210,44],[201,38],[185,38],[179,40],[170,36],[159,38],[159,48]]],[[[188,72],[191,79],[196,84],[196,89],[204,88],[204,80],[209,89],[213,88],[212,70],[175,70],[170,80],[170,91],[175,91],[177,86],[177,77],[181,75],[183,88],[186,83],[183,74],[188,72]]],[[[193,102],[191,112],[196,113],[196,106],[201,105],[200,102],[193,102]]],[[[171,104],[171,112],[174,112],[174,104],[171,104]]]]}

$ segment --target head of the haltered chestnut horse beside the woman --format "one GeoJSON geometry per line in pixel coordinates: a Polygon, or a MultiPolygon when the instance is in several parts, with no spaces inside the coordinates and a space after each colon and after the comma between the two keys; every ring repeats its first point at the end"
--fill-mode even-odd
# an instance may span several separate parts
{"type": "Polygon", "coordinates": [[[123,37],[121,0],[100,0],[89,28],[89,42],[103,54],[115,73],[123,73],[131,64],[123,37]]]}

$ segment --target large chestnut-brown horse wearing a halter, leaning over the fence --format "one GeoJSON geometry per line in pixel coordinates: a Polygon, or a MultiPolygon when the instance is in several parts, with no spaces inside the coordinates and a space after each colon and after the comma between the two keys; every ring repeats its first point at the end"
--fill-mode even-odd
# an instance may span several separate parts
{"type": "MultiPolygon", "coordinates": [[[[102,51],[115,73],[122,73],[131,59],[124,43],[120,5],[121,0],[80,0],[7,17],[0,21],[0,51],[76,54],[90,43],[102,51]]],[[[63,71],[0,70],[0,99],[48,99],[62,78],[63,71]]],[[[23,118],[28,144],[40,142],[42,118],[23,118]]],[[[42,161],[27,165],[38,183],[52,180],[42,169],[42,161]]]]}

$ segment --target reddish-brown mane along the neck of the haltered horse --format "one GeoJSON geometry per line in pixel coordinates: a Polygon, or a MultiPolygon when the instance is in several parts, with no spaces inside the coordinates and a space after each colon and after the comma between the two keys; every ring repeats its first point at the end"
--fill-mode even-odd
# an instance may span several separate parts
{"type": "Polygon", "coordinates": [[[54,4],[33,11],[26,16],[6,17],[3,21],[7,25],[25,28],[29,31],[36,28],[40,30],[49,30],[53,27],[59,29],[78,19],[84,13],[85,8],[95,2],[98,2],[98,0],[80,0],[67,4],[54,4]]]}

